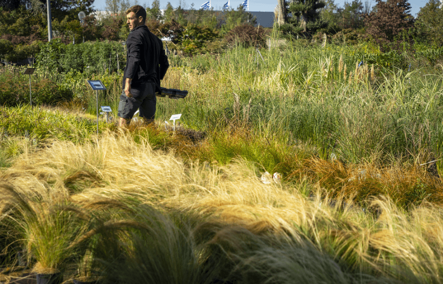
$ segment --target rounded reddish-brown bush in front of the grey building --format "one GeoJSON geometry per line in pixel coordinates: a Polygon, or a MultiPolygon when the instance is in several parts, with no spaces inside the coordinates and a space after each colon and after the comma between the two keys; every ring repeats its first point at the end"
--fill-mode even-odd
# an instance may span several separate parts
{"type": "Polygon", "coordinates": [[[264,29],[261,27],[254,28],[252,25],[237,26],[229,31],[225,39],[231,45],[239,43],[242,46],[264,47],[264,29]]]}

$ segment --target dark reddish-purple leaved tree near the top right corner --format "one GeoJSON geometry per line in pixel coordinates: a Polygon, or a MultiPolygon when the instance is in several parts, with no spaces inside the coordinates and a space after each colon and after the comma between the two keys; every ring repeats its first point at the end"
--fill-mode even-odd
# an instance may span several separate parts
{"type": "Polygon", "coordinates": [[[404,39],[398,38],[413,26],[410,14],[411,5],[406,0],[376,0],[374,10],[366,17],[367,33],[383,50],[396,41],[392,48],[399,46],[404,39]]]}

